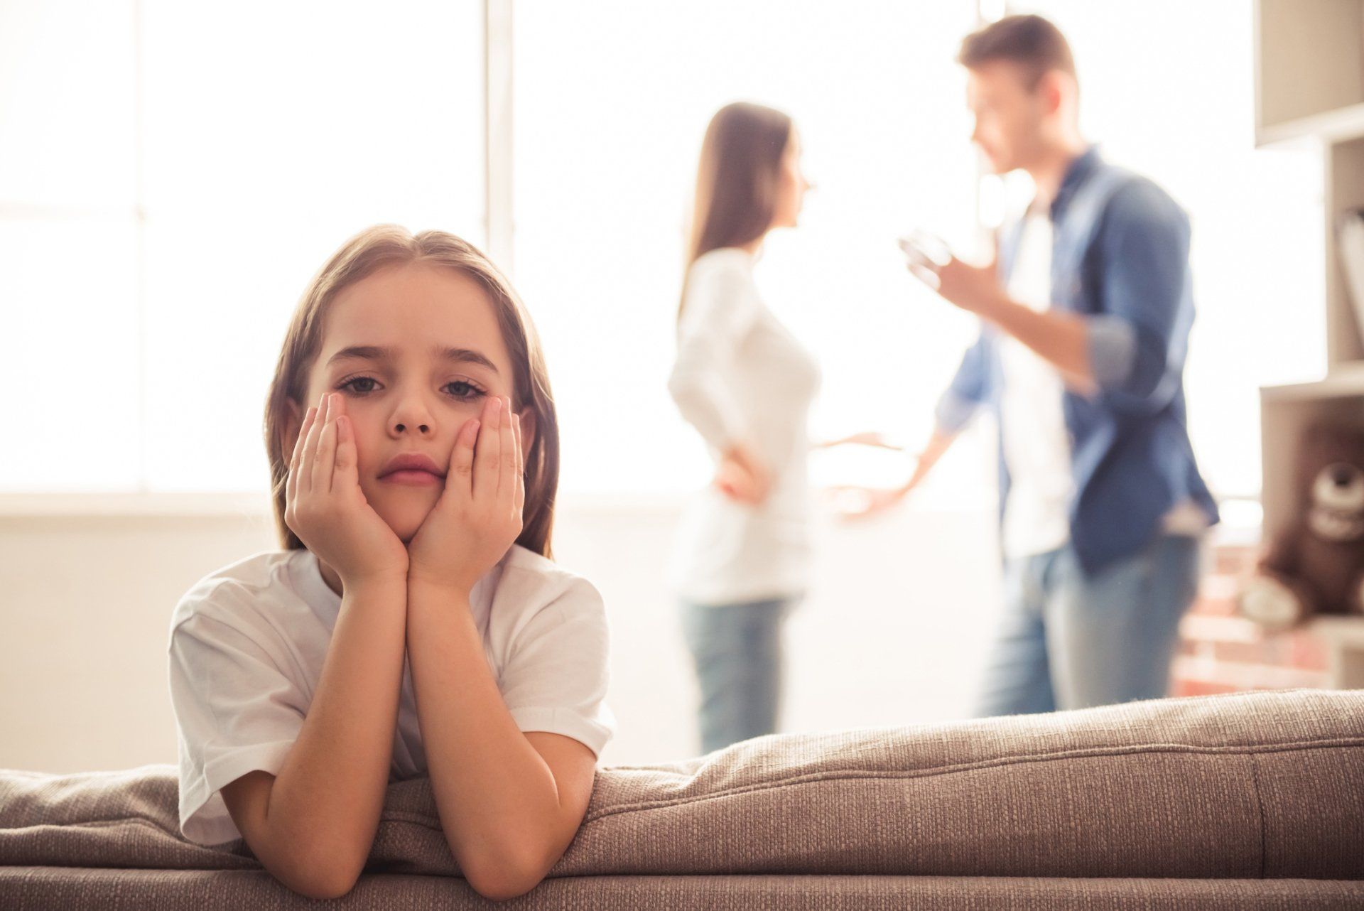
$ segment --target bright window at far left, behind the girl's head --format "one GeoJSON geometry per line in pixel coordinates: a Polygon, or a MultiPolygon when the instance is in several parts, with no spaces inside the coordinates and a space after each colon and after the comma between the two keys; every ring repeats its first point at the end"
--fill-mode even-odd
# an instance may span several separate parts
{"type": "Polygon", "coordinates": [[[0,3],[0,487],[262,490],[311,274],[374,222],[481,243],[476,0],[0,3]]]}

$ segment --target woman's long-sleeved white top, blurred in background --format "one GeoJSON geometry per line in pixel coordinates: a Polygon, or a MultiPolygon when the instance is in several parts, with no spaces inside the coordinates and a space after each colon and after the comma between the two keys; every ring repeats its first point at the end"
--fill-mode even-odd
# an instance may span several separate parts
{"type": "Polygon", "coordinates": [[[712,250],[687,271],[668,391],[711,454],[746,443],[771,471],[767,499],[737,503],[713,487],[689,505],[674,582],[694,604],[735,604],[805,592],[810,571],[806,483],[814,357],[762,304],[753,258],[712,250]]]}

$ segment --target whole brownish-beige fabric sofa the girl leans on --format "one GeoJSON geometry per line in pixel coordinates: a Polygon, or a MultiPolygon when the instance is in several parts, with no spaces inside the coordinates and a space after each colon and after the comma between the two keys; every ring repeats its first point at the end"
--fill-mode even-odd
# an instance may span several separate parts
{"type": "MultiPolygon", "coordinates": [[[[0,772],[3,908],[292,908],[172,766],[0,772]]],[[[345,908],[1364,908],[1364,690],[791,734],[599,772],[540,886],[472,892],[426,780],[345,908]]]]}

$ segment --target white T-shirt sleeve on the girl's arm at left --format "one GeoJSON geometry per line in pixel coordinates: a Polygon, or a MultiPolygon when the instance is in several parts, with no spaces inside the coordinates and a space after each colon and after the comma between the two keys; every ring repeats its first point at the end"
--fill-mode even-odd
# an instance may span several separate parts
{"type": "Polygon", "coordinates": [[[256,769],[278,775],[303,728],[307,698],[254,638],[213,616],[177,625],[169,657],[180,831],[199,844],[239,839],[221,788],[256,769]]]}

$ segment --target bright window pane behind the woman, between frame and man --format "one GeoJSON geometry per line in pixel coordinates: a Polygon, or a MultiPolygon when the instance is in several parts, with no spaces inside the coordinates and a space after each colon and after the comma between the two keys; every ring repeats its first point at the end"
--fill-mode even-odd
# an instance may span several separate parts
{"type": "Polygon", "coordinates": [[[760,262],[768,304],[824,365],[820,434],[926,434],[970,320],[904,270],[895,237],[968,244],[975,157],[956,42],[974,3],[521,3],[517,281],[561,401],[565,486],[660,490],[705,468],[666,380],[683,226],[707,121],[790,113],[816,183],[760,262]]]}

